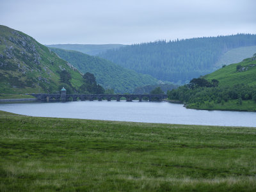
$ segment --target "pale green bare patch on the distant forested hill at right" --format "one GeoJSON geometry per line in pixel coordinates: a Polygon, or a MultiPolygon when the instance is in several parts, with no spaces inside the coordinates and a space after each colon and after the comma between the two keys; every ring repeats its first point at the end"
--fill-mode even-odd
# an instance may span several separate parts
{"type": "Polygon", "coordinates": [[[222,67],[223,65],[230,65],[232,63],[239,63],[244,58],[250,58],[256,52],[256,46],[239,47],[231,49],[221,55],[220,60],[216,63],[216,67],[222,67]]]}

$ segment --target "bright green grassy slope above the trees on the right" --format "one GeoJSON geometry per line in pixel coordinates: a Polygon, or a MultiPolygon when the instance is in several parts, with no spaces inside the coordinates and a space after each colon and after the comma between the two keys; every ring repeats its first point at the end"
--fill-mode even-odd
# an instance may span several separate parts
{"type": "Polygon", "coordinates": [[[205,79],[217,79],[220,85],[234,84],[256,84],[256,54],[252,58],[247,58],[240,63],[234,63],[224,68],[220,68],[205,76],[205,79]],[[241,67],[239,67],[241,66],[241,67]]]}

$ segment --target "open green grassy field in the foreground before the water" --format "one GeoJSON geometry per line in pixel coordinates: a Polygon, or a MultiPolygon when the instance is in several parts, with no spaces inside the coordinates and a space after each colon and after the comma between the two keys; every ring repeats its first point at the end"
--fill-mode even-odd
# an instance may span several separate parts
{"type": "Polygon", "coordinates": [[[256,191],[256,129],[0,111],[0,191],[256,191]]]}

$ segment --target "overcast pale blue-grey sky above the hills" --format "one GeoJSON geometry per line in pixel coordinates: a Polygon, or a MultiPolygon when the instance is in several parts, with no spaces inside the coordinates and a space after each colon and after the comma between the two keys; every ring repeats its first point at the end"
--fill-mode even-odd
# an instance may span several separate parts
{"type": "Polygon", "coordinates": [[[138,44],[256,33],[255,0],[0,0],[0,24],[41,44],[138,44]]]}

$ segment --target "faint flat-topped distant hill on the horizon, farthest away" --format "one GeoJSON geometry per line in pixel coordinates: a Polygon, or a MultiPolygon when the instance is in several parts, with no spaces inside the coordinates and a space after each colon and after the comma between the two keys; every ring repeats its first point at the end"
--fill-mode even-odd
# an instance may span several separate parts
{"type": "Polygon", "coordinates": [[[118,49],[124,47],[122,44],[103,44],[103,45],[90,45],[90,44],[57,44],[46,45],[47,47],[55,47],[59,49],[79,51],[90,55],[97,55],[109,49],[118,49]]]}

